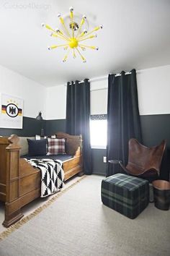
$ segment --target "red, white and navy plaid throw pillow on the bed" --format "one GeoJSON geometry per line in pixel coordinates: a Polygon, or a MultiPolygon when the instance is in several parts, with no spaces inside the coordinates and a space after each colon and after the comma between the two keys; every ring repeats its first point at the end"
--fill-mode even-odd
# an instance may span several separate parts
{"type": "Polygon", "coordinates": [[[66,154],[65,139],[48,138],[48,153],[47,155],[66,154]]]}

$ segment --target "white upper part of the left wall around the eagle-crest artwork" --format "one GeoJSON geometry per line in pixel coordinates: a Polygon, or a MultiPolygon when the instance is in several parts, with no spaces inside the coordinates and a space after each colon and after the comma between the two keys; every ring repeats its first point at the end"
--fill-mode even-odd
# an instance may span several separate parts
{"type": "MultiPolygon", "coordinates": [[[[35,118],[42,111],[45,119],[46,88],[21,74],[0,66],[0,94],[6,93],[24,100],[24,116],[35,118]]],[[[1,101],[1,97],[0,97],[1,101]]]]}

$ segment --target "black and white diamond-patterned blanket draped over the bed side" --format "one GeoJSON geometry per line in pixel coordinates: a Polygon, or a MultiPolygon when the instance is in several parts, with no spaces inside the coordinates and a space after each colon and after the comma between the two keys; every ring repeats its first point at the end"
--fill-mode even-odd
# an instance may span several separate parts
{"type": "Polygon", "coordinates": [[[30,159],[25,160],[41,171],[41,197],[47,197],[63,188],[64,171],[60,160],[30,159]]]}

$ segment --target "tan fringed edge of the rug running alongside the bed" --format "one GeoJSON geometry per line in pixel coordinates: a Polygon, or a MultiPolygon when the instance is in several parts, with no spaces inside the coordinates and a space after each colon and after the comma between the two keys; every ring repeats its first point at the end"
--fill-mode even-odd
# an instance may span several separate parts
{"type": "Polygon", "coordinates": [[[39,208],[37,208],[36,210],[34,210],[32,213],[30,213],[28,216],[22,218],[20,221],[17,221],[17,223],[14,223],[12,226],[10,226],[9,228],[7,228],[5,231],[3,231],[0,234],[0,241],[5,239],[7,236],[9,236],[9,234],[11,234],[12,232],[16,231],[17,229],[19,229],[21,226],[24,225],[24,223],[27,223],[28,221],[30,221],[32,218],[34,218],[35,216],[37,216],[37,214],[39,214],[40,212],[42,212],[42,210],[44,210],[45,208],[48,208],[49,205],[51,205],[55,200],[58,199],[58,197],[61,197],[61,195],[63,195],[63,193],[67,192],[69,189],[71,189],[72,187],[74,187],[77,183],[81,182],[82,179],[86,178],[86,175],[82,176],[80,179],[78,179],[76,182],[74,182],[73,184],[71,184],[69,187],[66,187],[66,189],[63,189],[62,191],[58,192],[55,196],[53,196],[50,200],[48,200],[48,202],[45,202],[44,205],[40,206],[39,208]]]}

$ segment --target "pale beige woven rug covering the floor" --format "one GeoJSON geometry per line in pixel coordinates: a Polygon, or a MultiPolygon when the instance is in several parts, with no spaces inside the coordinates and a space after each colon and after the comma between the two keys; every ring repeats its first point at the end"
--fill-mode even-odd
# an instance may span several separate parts
{"type": "Polygon", "coordinates": [[[0,255],[168,256],[170,211],[150,204],[134,220],[126,218],[102,204],[101,181],[86,176],[8,236],[1,234],[0,255]]]}

